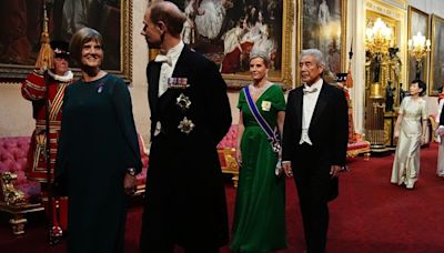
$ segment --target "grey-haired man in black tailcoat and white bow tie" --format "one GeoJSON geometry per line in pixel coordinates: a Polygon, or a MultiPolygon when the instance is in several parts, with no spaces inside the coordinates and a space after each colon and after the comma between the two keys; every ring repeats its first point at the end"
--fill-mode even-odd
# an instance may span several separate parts
{"type": "Polygon", "coordinates": [[[289,178],[294,173],[307,253],[325,251],[327,202],[339,193],[349,134],[345,94],[324,82],[324,70],[320,50],[302,51],[303,85],[289,93],[282,139],[283,169],[289,178]]]}

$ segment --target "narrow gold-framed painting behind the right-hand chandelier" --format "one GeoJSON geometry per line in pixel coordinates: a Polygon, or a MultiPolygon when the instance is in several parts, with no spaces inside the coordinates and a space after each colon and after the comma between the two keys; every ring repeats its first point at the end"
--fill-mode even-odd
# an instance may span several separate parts
{"type": "MultiPolygon", "coordinates": [[[[426,39],[430,38],[430,27],[428,27],[428,14],[410,6],[408,7],[408,34],[407,38],[412,39],[413,36],[416,36],[418,32],[425,36],[426,39]]],[[[421,71],[421,80],[427,80],[428,73],[428,54],[427,57],[422,59],[422,71],[421,71]]],[[[411,83],[416,78],[416,60],[413,55],[408,53],[407,57],[407,77],[408,83],[411,83]]]]}

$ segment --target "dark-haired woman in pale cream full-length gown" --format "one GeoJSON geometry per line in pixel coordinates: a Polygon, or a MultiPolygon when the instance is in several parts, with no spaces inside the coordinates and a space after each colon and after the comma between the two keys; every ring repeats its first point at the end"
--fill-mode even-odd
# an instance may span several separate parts
{"type": "Polygon", "coordinates": [[[413,189],[420,174],[420,150],[425,142],[427,103],[421,98],[425,93],[425,83],[412,81],[410,97],[403,99],[395,125],[397,139],[395,160],[391,182],[406,189],[413,189]]]}

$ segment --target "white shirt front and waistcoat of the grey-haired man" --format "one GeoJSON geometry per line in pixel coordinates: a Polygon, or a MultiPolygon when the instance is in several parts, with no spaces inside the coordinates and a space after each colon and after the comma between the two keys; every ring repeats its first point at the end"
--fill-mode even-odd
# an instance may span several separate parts
{"type": "Polygon", "coordinates": [[[304,84],[304,95],[302,99],[302,133],[300,144],[307,143],[313,145],[309,136],[310,122],[312,121],[314,108],[316,107],[317,98],[322,89],[323,80],[320,79],[311,87],[304,84]]]}

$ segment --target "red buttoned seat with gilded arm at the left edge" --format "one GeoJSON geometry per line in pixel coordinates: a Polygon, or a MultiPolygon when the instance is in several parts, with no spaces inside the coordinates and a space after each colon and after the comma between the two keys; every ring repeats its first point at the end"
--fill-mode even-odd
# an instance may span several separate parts
{"type": "Polygon", "coordinates": [[[24,174],[30,138],[0,138],[0,211],[12,214],[14,234],[24,233],[26,213],[42,211],[40,183],[24,174]]]}

